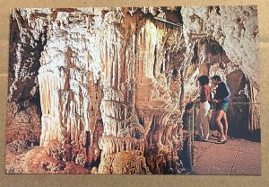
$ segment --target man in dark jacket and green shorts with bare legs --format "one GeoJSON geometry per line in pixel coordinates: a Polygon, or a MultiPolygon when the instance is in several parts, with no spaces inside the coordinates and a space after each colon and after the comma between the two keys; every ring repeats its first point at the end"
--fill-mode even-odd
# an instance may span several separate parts
{"type": "Polygon", "coordinates": [[[220,76],[213,76],[212,83],[213,85],[217,85],[216,94],[214,95],[213,102],[216,103],[215,122],[218,124],[218,127],[221,132],[221,139],[217,143],[225,144],[227,143],[228,132],[228,120],[226,113],[229,109],[230,87],[229,85],[221,81],[220,76]],[[222,118],[224,120],[224,126],[221,123],[222,118]]]}

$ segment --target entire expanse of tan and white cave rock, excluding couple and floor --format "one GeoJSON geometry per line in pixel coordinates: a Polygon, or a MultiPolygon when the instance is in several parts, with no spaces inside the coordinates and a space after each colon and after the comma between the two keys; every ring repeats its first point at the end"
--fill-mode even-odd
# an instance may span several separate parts
{"type": "MultiPolygon", "coordinates": [[[[7,139],[40,147],[10,173],[181,174],[198,76],[258,102],[256,16],[255,6],[13,10],[7,139]],[[153,18],[164,15],[178,24],[153,18]]],[[[229,115],[234,129],[246,116],[260,129],[258,105],[229,115]]]]}

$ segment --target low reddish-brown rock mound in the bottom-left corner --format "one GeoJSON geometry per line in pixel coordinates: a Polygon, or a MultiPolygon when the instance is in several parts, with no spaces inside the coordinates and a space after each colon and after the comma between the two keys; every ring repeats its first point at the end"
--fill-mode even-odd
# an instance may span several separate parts
{"type": "MultiPolygon", "coordinates": [[[[88,174],[84,159],[79,156],[73,161],[74,148],[65,147],[51,140],[46,147],[24,148],[20,154],[6,153],[7,174],[88,174]]],[[[9,149],[10,150],[10,149],[9,149]]]]}

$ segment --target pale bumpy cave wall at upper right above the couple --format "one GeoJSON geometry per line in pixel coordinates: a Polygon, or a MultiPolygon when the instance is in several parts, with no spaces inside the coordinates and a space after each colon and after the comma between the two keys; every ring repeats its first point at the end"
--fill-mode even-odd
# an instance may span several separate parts
{"type": "Polygon", "coordinates": [[[187,43],[201,36],[213,38],[225,50],[230,61],[238,65],[255,86],[258,82],[256,8],[256,6],[209,6],[182,7],[181,10],[187,43]]]}

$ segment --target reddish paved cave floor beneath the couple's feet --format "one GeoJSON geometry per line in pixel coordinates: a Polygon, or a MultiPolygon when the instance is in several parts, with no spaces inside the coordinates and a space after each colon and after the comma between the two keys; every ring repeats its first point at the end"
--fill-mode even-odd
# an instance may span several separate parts
{"type": "Polygon", "coordinates": [[[195,141],[194,174],[260,175],[261,143],[228,138],[226,144],[195,141]]]}

